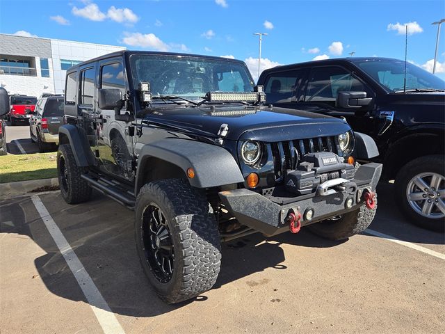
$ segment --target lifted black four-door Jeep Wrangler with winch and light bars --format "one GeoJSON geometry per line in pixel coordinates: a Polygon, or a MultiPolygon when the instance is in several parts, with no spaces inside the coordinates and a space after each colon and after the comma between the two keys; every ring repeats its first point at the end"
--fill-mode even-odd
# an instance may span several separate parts
{"type": "Polygon", "coordinates": [[[340,119],[264,106],[245,63],[120,51],[67,70],[57,158],[66,202],[97,189],[134,209],[161,299],[210,289],[220,242],[309,225],[330,239],[373,220],[374,141],[340,119]]]}

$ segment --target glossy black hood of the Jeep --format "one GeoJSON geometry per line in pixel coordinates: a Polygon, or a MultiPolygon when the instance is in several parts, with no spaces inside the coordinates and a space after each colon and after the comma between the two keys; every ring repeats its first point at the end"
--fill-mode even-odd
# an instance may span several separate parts
{"type": "Polygon", "coordinates": [[[333,136],[350,129],[339,119],[295,109],[267,106],[176,106],[156,108],[144,121],[179,127],[190,132],[208,132],[216,136],[227,124],[227,139],[284,141],[293,138],[333,136]]]}

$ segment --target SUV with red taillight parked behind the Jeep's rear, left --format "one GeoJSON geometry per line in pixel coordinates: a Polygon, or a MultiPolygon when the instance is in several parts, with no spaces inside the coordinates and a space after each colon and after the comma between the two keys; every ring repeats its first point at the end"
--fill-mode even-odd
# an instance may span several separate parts
{"type": "Polygon", "coordinates": [[[63,95],[41,97],[29,118],[29,136],[39,152],[56,150],[58,128],[63,125],[63,95]]]}

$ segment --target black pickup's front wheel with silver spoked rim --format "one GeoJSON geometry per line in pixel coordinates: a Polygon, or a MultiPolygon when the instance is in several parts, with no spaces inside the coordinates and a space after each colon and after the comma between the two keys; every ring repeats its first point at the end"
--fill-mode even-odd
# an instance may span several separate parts
{"type": "Polygon", "coordinates": [[[396,176],[396,199],[410,222],[428,230],[445,230],[445,162],[443,155],[419,157],[396,176]]]}

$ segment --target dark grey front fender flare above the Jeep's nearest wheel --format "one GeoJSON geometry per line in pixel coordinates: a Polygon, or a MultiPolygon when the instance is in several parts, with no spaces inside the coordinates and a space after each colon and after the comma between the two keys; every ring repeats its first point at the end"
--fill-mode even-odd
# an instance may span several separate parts
{"type": "Polygon", "coordinates": [[[138,159],[138,170],[136,175],[136,192],[143,184],[144,177],[141,166],[144,160],[154,157],[168,161],[184,170],[195,170],[195,177],[188,178],[191,186],[197,188],[211,188],[244,182],[241,170],[236,164],[232,154],[225,148],[199,141],[188,141],[177,138],[167,138],[143,146],[138,159]]]}

